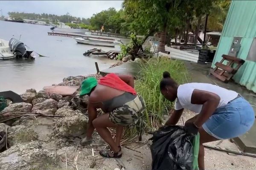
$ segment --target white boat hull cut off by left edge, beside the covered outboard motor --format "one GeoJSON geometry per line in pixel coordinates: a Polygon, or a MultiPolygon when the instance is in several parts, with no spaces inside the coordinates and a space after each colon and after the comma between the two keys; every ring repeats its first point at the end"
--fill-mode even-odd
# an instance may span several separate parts
{"type": "Polygon", "coordinates": [[[13,59],[15,57],[16,54],[9,47],[9,41],[0,39],[0,59],[13,59]]]}

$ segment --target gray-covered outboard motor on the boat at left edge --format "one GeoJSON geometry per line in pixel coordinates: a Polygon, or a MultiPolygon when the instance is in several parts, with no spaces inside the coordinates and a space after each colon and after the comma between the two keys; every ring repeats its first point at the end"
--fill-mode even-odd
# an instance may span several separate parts
{"type": "Polygon", "coordinates": [[[12,38],[9,41],[9,47],[11,48],[12,51],[16,53],[16,57],[24,57],[24,55],[26,54],[26,48],[23,42],[15,38],[12,38]]]}

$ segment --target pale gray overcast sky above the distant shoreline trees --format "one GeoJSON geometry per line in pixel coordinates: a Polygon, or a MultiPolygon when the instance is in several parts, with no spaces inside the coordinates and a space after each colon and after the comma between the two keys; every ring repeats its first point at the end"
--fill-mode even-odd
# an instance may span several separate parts
{"type": "Polygon", "coordinates": [[[3,15],[8,12],[25,12],[36,14],[64,15],[74,17],[91,17],[108,8],[121,9],[122,0],[0,0],[3,15]]]}

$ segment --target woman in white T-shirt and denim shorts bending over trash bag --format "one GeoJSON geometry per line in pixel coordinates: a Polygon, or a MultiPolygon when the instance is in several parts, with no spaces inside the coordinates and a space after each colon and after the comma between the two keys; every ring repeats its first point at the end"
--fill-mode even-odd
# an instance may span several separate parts
{"type": "Polygon", "coordinates": [[[167,71],[163,73],[160,91],[169,101],[176,100],[175,110],[165,125],[176,125],[184,109],[199,113],[185,127],[189,134],[200,133],[200,170],[204,170],[204,143],[240,136],[253,126],[253,108],[235,91],[207,83],[178,85],[167,71]]]}

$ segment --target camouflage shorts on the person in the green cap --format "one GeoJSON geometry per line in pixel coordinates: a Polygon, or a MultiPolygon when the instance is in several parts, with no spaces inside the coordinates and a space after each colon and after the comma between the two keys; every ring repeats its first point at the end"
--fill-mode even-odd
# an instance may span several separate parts
{"type": "Polygon", "coordinates": [[[138,94],[134,100],[111,111],[109,113],[109,119],[116,125],[135,125],[140,119],[139,116],[141,116],[143,111],[145,111],[145,102],[138,94]]]}

